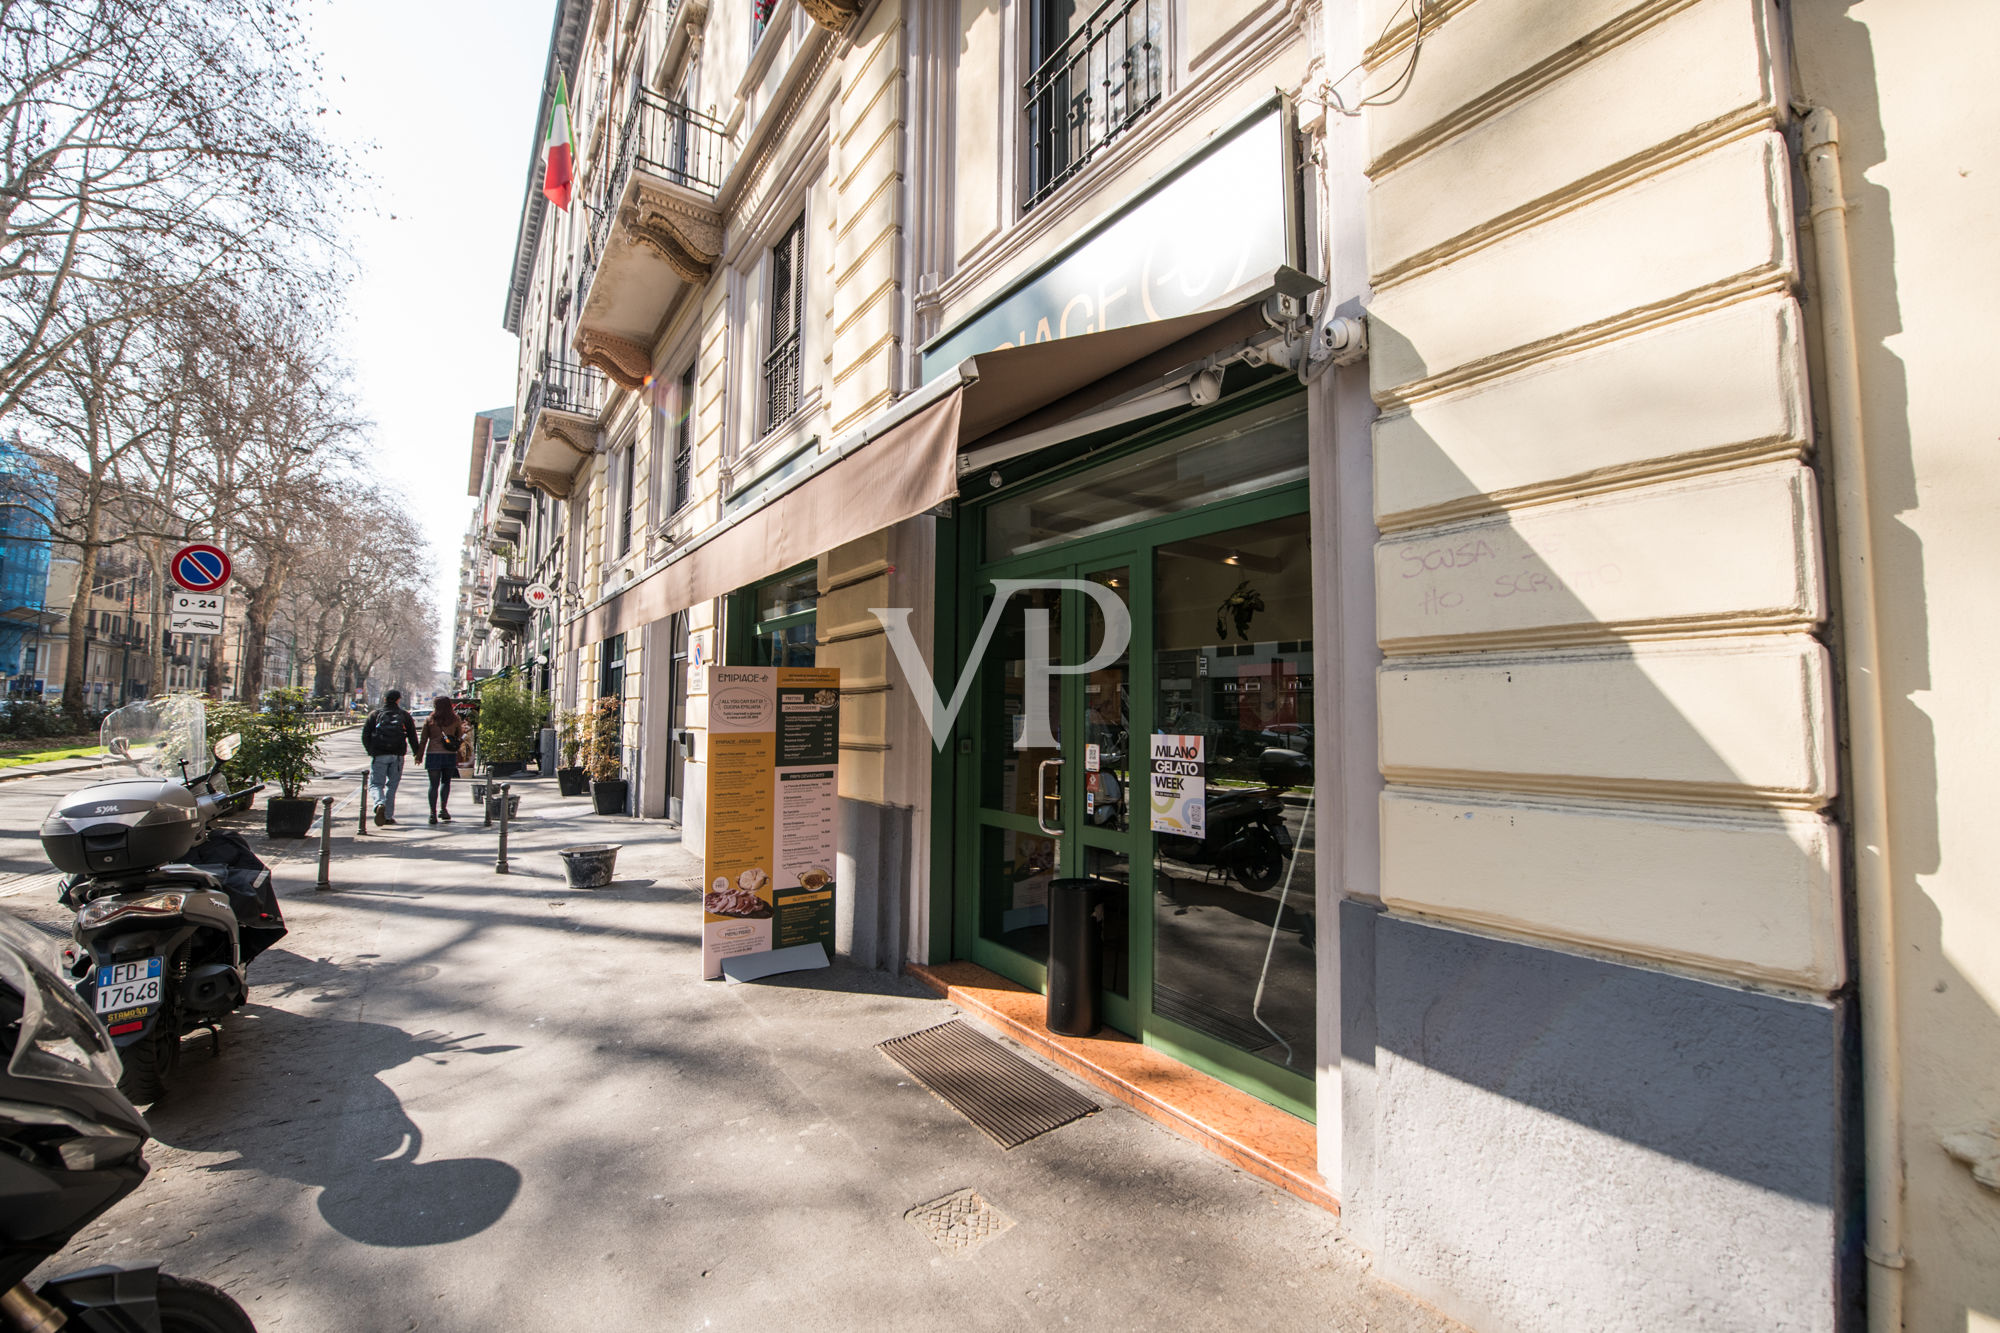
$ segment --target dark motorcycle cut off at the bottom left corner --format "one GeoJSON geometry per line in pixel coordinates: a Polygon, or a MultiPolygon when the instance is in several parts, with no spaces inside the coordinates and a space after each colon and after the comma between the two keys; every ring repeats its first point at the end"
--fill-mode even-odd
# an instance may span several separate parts
{"type": "Polygon", "coordinates": [[[0,913],[0,1329],[256,1333],[208,1283],[108,1263],[30,1291],[26,1277],[146,1179],[152,1133],[118,1093],[110,1033],[0,913]]]}

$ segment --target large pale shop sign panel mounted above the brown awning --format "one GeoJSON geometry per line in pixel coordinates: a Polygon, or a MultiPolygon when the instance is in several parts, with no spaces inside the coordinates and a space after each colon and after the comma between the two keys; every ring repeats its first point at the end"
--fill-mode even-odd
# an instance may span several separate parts
{"type": "Polygon", "coordinates": [[[1194,314],[1296,266],[1288,130],[1274,102],[1226,132],[924,348],[924,378],[1004,346],[1194,314]]]}

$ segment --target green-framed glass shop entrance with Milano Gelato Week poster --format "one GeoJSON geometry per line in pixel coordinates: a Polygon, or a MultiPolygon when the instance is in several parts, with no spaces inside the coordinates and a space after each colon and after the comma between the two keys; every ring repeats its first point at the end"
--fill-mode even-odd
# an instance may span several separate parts
{"type": "Polygon", "coordinates": [[[954,953],[1040,989],[1048,881],[1120,885],[1106,1021],[1310,1119],[1304,470],[1296,394],[1136,440],[968,504],[946,596],[972,673],[954,747],[954,953]],[[1120,614],[1130,640],[1104,652],[1120,614]],[[1152,831],[1154,735],[1200,739],[1206,837],[1152,831]]]}

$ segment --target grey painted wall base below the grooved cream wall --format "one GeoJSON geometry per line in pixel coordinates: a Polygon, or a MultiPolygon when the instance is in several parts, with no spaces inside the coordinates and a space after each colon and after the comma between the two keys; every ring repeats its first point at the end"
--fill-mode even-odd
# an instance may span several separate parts
{"type": "Polygon", "coordinates": [[[1482,1333],[1850,1327],[1844,1005],[1372,925],[1342,1155],[1384,1277],[1482,1333]]]}

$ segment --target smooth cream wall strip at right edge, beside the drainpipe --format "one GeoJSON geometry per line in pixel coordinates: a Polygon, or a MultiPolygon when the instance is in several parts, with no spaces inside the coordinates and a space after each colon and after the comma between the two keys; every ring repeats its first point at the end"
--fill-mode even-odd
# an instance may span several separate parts
{"type": "MultiPolygon", "coordinates": [[[[1906,1327],[2000,1327],[2000,52],[1986,0],[1794,10],[1796,96],[1840,122],[1882,618],[1904,1043],[1906,1327]]],[[[1836,476],[1836,484],[1844,478],[1836,476]]]]}

